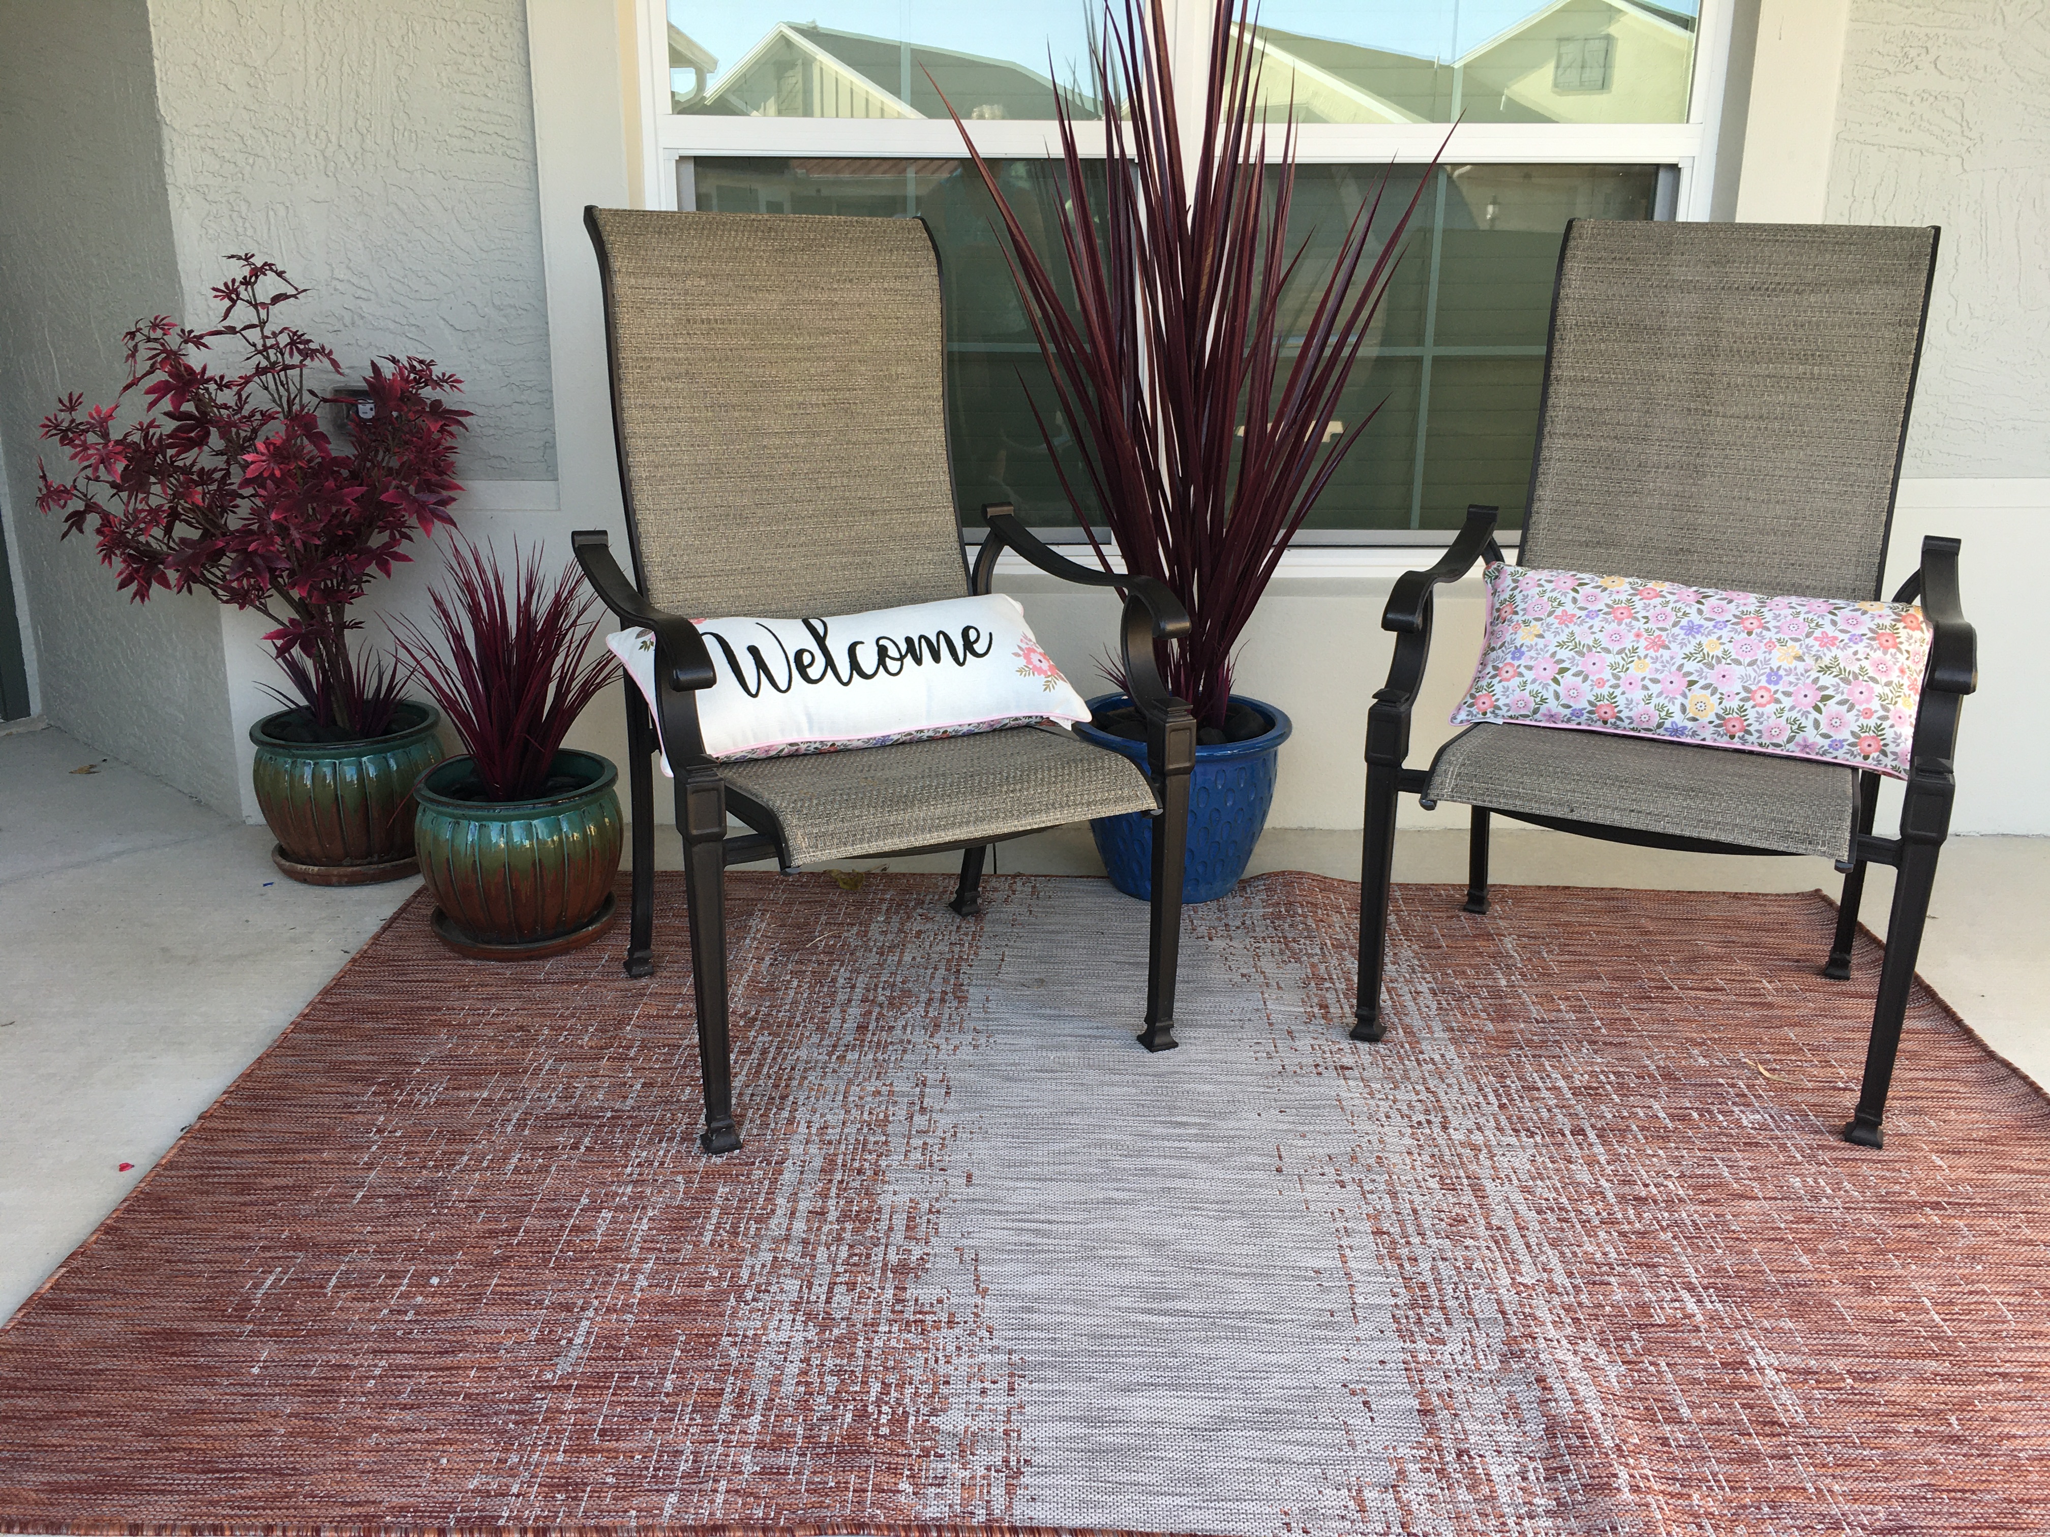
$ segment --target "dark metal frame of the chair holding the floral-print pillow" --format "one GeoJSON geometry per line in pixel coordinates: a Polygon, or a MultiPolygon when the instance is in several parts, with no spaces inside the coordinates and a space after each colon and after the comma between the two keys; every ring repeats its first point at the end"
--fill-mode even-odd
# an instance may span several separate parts
{"type": "MultiPolygon", "coordinates": [[[[1595,570],[1601,574],[1615,576],[1640,576],[1640,578],[1667,578],[1681,580],[1695,586],[1722,586],[1738,590],[1786,590],[1761,586],[1757,582],[1726,582],[1714,580],[1712,572],[1716,568],[1714,555],[1708,553],[1706,566],[1689,572],[1671,570],[1624,570],[1622,566],[1591,566],[1591,564],[1568,564],[1562,559],[1548,559],[1550,545],[1546,543],[1546,514],[1558,504],[1558,498],[1570,494],[1570,484],[1556,484],[1546,477],[1546,451],[1548,447],[1558,451],[1560,443],[1560,422],[1554,420],[1558,406],[1558,385],[1560,379],[1560,320],[1566,314],[1568,330],[1572,324],[1581,322],[1585,316],[1578,311],[1585,303],[1585,295],[1574,295],[1574,283],[1578,268],[1574,266],[1578,258],[1576,242],[1597,246],[1597,256],[1591,258],[1599,264],[1603,260],[1601,246],[1622,240],[1624,256],[1628,258],[1628,232],[1646,232],[1642,240],[1656,242],[1663,236],[1654,234],[1658,230],[1681,232],[1671,236],[1673,240],[1693,240],[1693,242],[1742,242],[1742,234],[1716,234],[1716,232],[1747,232],[1765,230],[1777,234],[1755,236],[1761,242],[1810,242],[1816,254],[1831,254],[1841,258],[1845,248],[1835,242],[1851,240],[1857,236],[1872,236],[1876,240],[1900,238],[1900,236],[1921,236],[1927,242],[1927,260],[1921,268],[1921,291],[1919,295],[1896,295],[1917,299],[1913,305],[1913,346],[1906,355],[1904,389],[1900,391],[1898,404],[1898,430],[1894,432],[1892,457],[1888,465],[1876,465],[1884,469],[1884,486],[1872,486],[1868,494],[1870,506],[1868,516],[1878,518],[1878,543],[1870,566],[1870,590],[1868,592],[1814,592],[1808,596],[1855,596],[1855,598],[1878,598],[1882,592],[1882,576],[1886,568],[1886,539],[1892,527],[1894,496],[1898,492],[1900,480],[1900,459],[1906,447],[1906,422],[1909,410],[1915,396],[1915,373],[1921,361],[1921,342],[1927,328],[1929,311],[1929,289],[1935,273],[1935,250],[1937,250],[1937,230],[1917,230],[1917,232],[1892,232],[1892,230],[1845,230],[1837,227],[1804,227],[1804,225],[1597,225],[1585,219],[1574,219],[1566,225],[1566,236],[1560,244],[1560,264],[1558,279],[1554,283],[1552,299],[1552,332],[1546,346],[1546,377],[1544,393],[1540,398],[1540,426],[1537,426],[1537,447],[1533,451],[1533,471],[1531,471],[1531,500],[1525,514],[1525,539],[1519,549],[1519,559],[1535,566],[1566,566],[1570,570],[1595,570]],[[1617,230],[1626,234],[1617,234],[1617,230]],[[1691,234],[1689,234],[1691,232],[1691,234]],[[1537,559],[1531,562],[1533,545],[1537,559]],[[1710,572],[1704,576],[1701,572],[1710,572]]],[[[1788,250],[1794,250],[1794,244],[1788,250]]],[[[1896,252],[1894,266],[1906,271],[1917,254],[1909,250],[1904,256],[1896,252]]],[[[1855,260],[1855,252],[1851,256],[1855,260]]],[[[1909,316],[1900,316],[1898,322],[1904,326],[1909,316]]],[[[1816,432],[1829,434],[1833,422],[1812,424],[1816,432]]],[[[1581,449],[1585,445],[1574,445],[1581,449]]],[[[1581,455],[1585,459],[1585,455],[1581,455]]],[[[1533,728],[1533,725],[1470,725],[1464,734],[1447,742],[1429,768],[1408,766],[1408,746],[1410,746],[1410,711],[1417,703],[1417,693],[1423,684],[1425,662],[1431,650],[1431,613],[1433,594],[1439,586],[1447,582],[1458,582],[1466,576],[1476,562],[1503,559],[1503,549],[1494,539],[1499,508],[1492,506],[1470,506],[1466,512],[1466,523],[1453,539],[1445,555],[1429,570],[1406,572],[1396,580],[1390,592],[1388,607],[1382,613],[1382,629],[1396,635],[1394,660],[1388,668],[1388,682],[1373,695],[1373,705],[1367,711],[1367,795],[1365,795],[1365,832],[1361,848],[1361,902],[1359,902],[1359,996],[1355,1006],[1353,1039],[1355,1041],[1380,1041],[1388,1031],[1388,1019],[1382,1008],[1382,986],[1384,986],[1384,961],[1386,961],[1386,941],[1388,941],[1388,885],[1392,875],[1394,859],[1394,832],[1396,832],[1396,797],[1402,793],[1421,797],[1423,805],[1437,805],[1439,799],[1466,801],[1472,807],[1470,822],[1470,842],[1468,842],[1468,889],[1466,889],[1466,912],[1484,914],[1488,910],[1488,824],[1492,816],[1509,816],[1519,822],[1529,822],[1535,826],[1556,828],[1560,832],[1576,832],[1581,836],[1605,838],[1613,842],[1640,844],[1650,848],[1675,848],[1689,853],[1714,853],[1714,855],[1790,855],[1790,853],[1816,853],[1816,848],[1794,848],[1794,846],[1773,846],[1773,842],[1788,844],[1792,838],[1761,838],[1759,842],[1740,842],[1724,838],[1706,836],[1685,836],[1656,826],[1617,826],[1613,822],[1599,822],[1578,816],[1560,816],[1533,809],[1531,805],[1511,805],[1501,803],[1513,799],[1503,797],[1480,797],[1468,799],[1468,795],[1453,793],[1458,789],[1458,773],[1447,773],[1447,764],[1458,766],[1462,744],[1470,744],[1476,732],[1511,732],[1521,734],[1521,738],[1501,738],[1509,744],[1531,746],[1531,740],[1544,740],[1548,748],[1558,742],[1568,742],[1568,748],[1556,748],[1558,752],[1568,752],[1572,742],[1595,744],[1595,750],[1605,742],[1626,742],[1636,748],[1650,752],[1677,752],[1677,754],[1718,754],[1720,762],[1710,766],[1712,760],[1701,758],[1697,773],[1726,773],[1732,766],[1742,768],[1740,760],[1757,760],[1759,754],[1747,754],[1732,748],[1720,746],[1697,746],[1697,744],[1669,744],[1669,742],[1648,742],[1634,738],[1611,738],[1597,736],[1591,732],[1570,732],[1556,728],[1533,728]],[[1732,760],[1736,760],[1732,764],[1732,760]]],[[[1570,535],[1568,535],[1570,543],[1570,535]]],[[[1583,539],[1583,545],[1587,539],[1583,539]]],[[[1911,762],[1909,777],[1904,785],[1904,801],[1900,809],[1900,830],[1892,838],[1876,836],[1872,832],[1874,814],[1878,807],[1880,775],[1870,771],[1829,771],[1841,773],[1847,779],[1855,779],[1855,787],[1849,787],[1849,832],[1841,844],[1841,855],[1837,855],[1837,869],[1843,873],[1843,900],[1837,910],[1837,930],[1831,943],[1829,959],[1824,961],[1822,975],[1833,980],[1849,980],[1851,975],[1851,945],[1857,934],[1857,910],[1865,887],[1865,867],[1872,863],[1890,865],[1896,871],[1894,881],[1894,902],[1892,918],[1886,937],[1886,959],[1880,969],[1878,998],[1874,1002],[1872,1014],[1872,1035],[1865,1049],[1865,1068],[1859,1088],[1857,1109],[1851,1121],[1843,1127],[1843,1137],[1851,1144],[1863,1148],[1884,1146],[1882,1121],[1886,1115],[1886,1094],[1892,1084],[1894,1060],[1900,1047],[1900,1025],[1906,1010],[1909,988],[1915,982],[1915,961],[1921,949],[1923,926],[1929,916],[1929,894],[1935,883],[1937,853],[1941,850],[1943,838],[1950,832],[1952,801],[1956,797],[1954,779],[1954,758],[1958,746],[1958,719],[1962,711],[1964,697],[1976,689],[1976,637],[1972,627],[1964,619],[1964,609],[1958,596],[1958,541],[1927,537],[1921,549],[1921,568],[1900,584],[1894,592],[1894,603],[1911,603],[1917,596],[1923,605],[1925,621],[1931,629],[1929,641],[1929,662],[1923,678],[1921,709],[1915,721],[1915,736],[1911,742],[1911,762]]],[[[1583,551],[1572,551],[1578,559],[1583,551]]],[[[1624,559],[1624,557],[1619,557],[1624,559]]],[[[1617,750],[1605,750],[1613,756],[1617,750]]],[[[1642,758],[1642,752],[1636,754],[1642,758]]],[[[1667,766],[1673,760],[1663,760],[1667,766]]],[[[1792,762],[1786,758],[1771,758],[1769,762],[1792,762]]],[[[1824,764],[1808,764],[1810,768],[1824,768],[1824,764]]],[[[1820,781],[1816,781],[1820,783],[1820,781]]]]}

